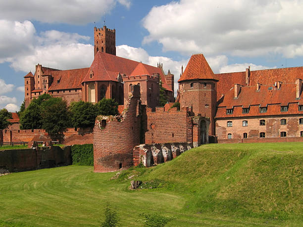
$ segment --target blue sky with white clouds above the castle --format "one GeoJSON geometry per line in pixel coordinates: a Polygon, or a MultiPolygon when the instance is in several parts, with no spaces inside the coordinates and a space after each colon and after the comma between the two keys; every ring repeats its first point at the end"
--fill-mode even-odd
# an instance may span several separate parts
{"type": "Polygon", "coordinates": [[[193,53],[214,73],[302,66],[302,0],[0,1],[0,108],[18,110],[35,65],[93,60],[93,28],[116,29],[117,55],[175,74],[193,53]],[[95,23],[96,24],[95,24],[95,23]]]}

